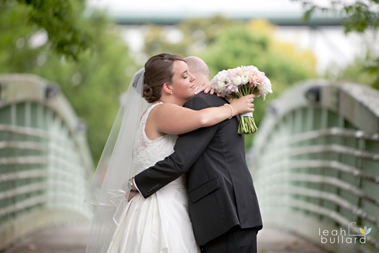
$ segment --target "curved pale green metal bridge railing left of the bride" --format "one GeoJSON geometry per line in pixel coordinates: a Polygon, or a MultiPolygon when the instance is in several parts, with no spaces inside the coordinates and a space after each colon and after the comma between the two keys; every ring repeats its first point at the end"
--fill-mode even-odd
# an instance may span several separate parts
{"type": "Polygon", "coordinates": [[[51,225],[91,219],[83,123],[53,85],[0,75],[0,250],[51,225]]]}

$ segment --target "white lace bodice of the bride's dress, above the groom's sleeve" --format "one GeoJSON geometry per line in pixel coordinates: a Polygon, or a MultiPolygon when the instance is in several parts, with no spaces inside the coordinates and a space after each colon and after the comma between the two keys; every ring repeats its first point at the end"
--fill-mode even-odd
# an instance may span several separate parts
{"type": "Polygon", "coordinates": [[[161,103],[154,103],[147,108],[139,123],[139,129],[136,132],[134,140],[133,160],[136,168],[136,174],[154,165],[157,161],[165,159],[174,152],[174,145],[177,135],[166,134],[154,140],[147,138],[145,134],[145,126],[147,117],[155,106],[161,103]]]}

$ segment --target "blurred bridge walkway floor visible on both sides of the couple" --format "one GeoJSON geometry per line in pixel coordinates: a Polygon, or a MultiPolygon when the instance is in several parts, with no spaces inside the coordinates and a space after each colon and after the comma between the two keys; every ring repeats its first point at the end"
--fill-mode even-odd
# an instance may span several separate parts
{"type": "MultiPolygon", "coordinates": [[[[89,232],[89,223],[49,228],[20,240],[2,253],[84,253],[89,232]]],[[[294,234],[266,227],[258,233],[258,252],[327,253],[294,234]]]]}

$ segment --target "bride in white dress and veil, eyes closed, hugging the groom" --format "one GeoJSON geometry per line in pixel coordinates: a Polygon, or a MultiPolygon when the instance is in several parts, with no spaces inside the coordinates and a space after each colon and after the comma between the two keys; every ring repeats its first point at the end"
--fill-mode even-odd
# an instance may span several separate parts
{"type": "Polygon", "coordinates": [[[184,176],[147,199],[136,194],[128,202],[126,190],[132,176],[174,152],[178,134],[252,112],[252,95],[218,108],[182,107],[195,94],[194,81],[176,54],[158,54],[134,74],[86,197],[96,205],[86,252],[200,252],[184,176]]]}

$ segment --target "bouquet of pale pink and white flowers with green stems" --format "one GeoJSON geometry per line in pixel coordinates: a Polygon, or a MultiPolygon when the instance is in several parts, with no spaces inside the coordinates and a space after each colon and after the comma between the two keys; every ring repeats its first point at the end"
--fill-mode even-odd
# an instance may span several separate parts
{"type": "MultiPolygon", "coordinates": [[[[212,79],[212,88],[221,97],[243,97],[247,94],[262,96],[272,93],[271,81],[265,77],[265,72],[260,72],[253,65],[240,66],[229,70],[221,70],[212,79]]],[[[258,128],[254,123],[253,113],[240,114],[238,134],[253,134],[258,128]]]]}

